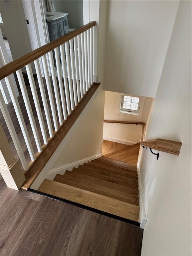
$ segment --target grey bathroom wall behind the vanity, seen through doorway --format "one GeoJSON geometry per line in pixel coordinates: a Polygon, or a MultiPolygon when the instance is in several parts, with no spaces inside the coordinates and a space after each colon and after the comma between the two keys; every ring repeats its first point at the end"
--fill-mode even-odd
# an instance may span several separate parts
{"type": "Polygon", "coordinates": [[[83,26],[83,0],[54,0],[56,12],[67,12],[70,28],[83,26]]]}

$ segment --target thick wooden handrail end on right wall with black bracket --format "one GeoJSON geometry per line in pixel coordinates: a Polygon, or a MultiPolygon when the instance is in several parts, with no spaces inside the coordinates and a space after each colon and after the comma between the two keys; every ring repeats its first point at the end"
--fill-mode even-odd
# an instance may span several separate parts
{"type": "Polygon", "coordinates": [[[182,143],[173,140],[155,139],[140,141],[140,144],[158,151],[179,155],[182,143]]]}

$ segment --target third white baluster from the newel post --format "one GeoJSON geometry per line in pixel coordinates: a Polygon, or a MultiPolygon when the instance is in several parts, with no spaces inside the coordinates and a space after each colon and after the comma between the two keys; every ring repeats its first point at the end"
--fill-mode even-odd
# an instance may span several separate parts
{"type": "Polygon", "coordinates": [[[30,100],[29,100],[29,96],[28,96],[28,93],[27,93],[27,89],[26,89],[26,86],[25,86],[25,82],[24,82],[24,78],[23,78],[23,74],[22,74],[21,69],[17,70],[16,74],[17,74],[18,82],[19,82],[19,85],[20,85],[20,88],[21,88],[21,93],[23,95],[23,100],[24,100],[24,103],[25,103],[27,114],[28,114],[28,117],[29,117],[29,122],[31,124],[31,128],[32,128],[32,131],[33,131],[34,139],[35,139],[35,142],[36,142],[36,145],[37,145],[37,150],[38,150],[38,152],[42,152],[42,147],[41,147],[41,142],[40,142],[40,139],[39,139],[39,134],[38,134],[38,131],[37,131],[37,126],[36,126],[35,119],[34,119],[34,116],[33,116],[31,103],[30,103],[30,100]]]}

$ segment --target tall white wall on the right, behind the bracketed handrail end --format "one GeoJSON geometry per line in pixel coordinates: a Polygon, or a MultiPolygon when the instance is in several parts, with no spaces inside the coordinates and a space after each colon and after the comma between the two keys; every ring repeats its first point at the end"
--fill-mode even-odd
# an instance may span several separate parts
{"type": "Polygon", "coordinates": [[[180,1],[147,139],[182,142],[180,155],[140,160],[147,223],[141,255],[191,255],[191,1],[180,1]]]}

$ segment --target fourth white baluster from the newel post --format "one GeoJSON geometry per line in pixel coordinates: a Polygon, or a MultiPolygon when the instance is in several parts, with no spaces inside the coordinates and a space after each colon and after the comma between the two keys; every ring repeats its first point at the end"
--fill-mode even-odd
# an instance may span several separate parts
{"type": "Polygon", "coordinates": [[[29,78],[29,84],[30,84],[30,87],[31,87],[33,100],[34,100],[34,103],[35,103],[35,109],[37,111],[37,117],[39,119],[39,124],[40,124],[40,128],[41,128],[41,133],[42,133],[42,136],[43,136],[43,141],[44,141],[44,144],[47,145],[48,144],[48,139],[47,139],[47,134],[46,134],[46,130],[45,130],[45,124],[44,124],[44,121],[43,121],[43,115],[42,115],[42,112],[41,112],[41,107],[40,107],[40,104],[39,104],[39,99],[38,99],[38,95],[37,95],[35,81],[34,81],[34,78],[33,78],[33,72],[32,72],[30,64],[26,65],[25,67],[26,67],[28,78],[29,78]]]}

